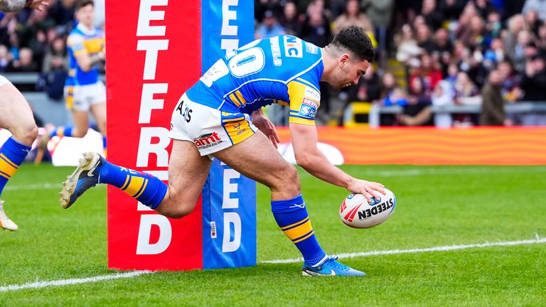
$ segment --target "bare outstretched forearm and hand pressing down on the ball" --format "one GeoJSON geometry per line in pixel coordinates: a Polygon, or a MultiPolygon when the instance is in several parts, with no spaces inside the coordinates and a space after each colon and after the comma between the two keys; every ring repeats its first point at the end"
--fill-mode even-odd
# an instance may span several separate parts
{"type": "Polygon", "coordinates": [[[296,163],[316,178],[364,195],[368,201],[385,194],[384,185],[353,178],[334,166],[316,146],[319,138],[315,126],[290,123],[290,134],[296,163]]]}

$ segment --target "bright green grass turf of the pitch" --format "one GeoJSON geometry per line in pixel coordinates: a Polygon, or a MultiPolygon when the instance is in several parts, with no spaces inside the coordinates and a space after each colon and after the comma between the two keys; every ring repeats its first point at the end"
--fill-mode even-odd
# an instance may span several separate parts
{"type": "MultiPolygon", "coordinates": [[[[301,173],[319,242],[329,253],[415,249],[546,237],[545,166],[343,166],[397,195],[370,230],[346,227],[348,194],[301,173]]],[[[71,168],[21,167],[2,195],[18,232],[0,232],[0,286],[114,274],[107,270],[106,189],[63,210],[71,168]]],[[[0,306],[545,306],[546,244],[343,259],[363,279],[301,276],[299,257],[258,187],[258,262],[246,269],[159,272],[73,286],[0,292],[0,306]]]]}

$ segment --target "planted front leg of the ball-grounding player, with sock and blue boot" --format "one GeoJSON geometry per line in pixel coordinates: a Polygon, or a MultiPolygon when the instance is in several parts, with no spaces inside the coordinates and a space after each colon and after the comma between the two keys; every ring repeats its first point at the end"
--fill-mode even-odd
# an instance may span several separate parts
{"type": "Polygon", "coordinates": [[[262,132],[213,154],[248,178],[267,185],[277,225],[304,257],[306,276],[363,276],[363,272],[336,262],[323,251],[314,234],[296,168],[284,160],[262,132]]]}

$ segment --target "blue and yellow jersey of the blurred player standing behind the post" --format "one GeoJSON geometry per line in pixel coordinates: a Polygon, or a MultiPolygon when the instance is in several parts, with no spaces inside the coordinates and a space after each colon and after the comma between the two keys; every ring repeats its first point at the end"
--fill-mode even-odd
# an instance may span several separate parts
{"type": "Polygon", "coordinates": [[[90,85],[99,80],[99,70],[97,67],[85,72],[77,65],[76,55],[80,53],[98,53],[105,46],[105,33],[100,28],[94,28],[92,31],[78,24],[70,32],[67,39],[68,57],[70,65],[66,86],[90,85]]]}

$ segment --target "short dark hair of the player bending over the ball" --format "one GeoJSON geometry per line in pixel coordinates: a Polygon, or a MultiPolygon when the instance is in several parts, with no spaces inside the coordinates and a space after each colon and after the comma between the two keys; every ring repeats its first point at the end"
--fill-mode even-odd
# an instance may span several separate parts
{"type": "Polygon", "coordinates": [[[343,28],[333,37],[330,45],[349,50],[358,60],[368,60],[372,63],[375,58],[372,40],[364,29],[358,26],[343,28]]]}

